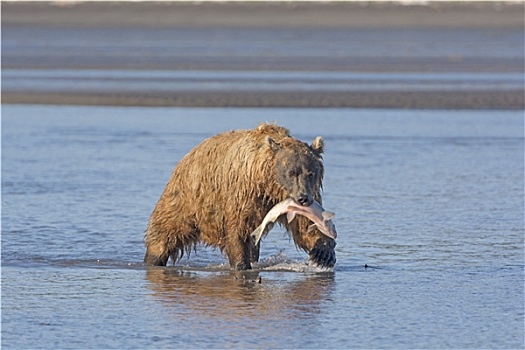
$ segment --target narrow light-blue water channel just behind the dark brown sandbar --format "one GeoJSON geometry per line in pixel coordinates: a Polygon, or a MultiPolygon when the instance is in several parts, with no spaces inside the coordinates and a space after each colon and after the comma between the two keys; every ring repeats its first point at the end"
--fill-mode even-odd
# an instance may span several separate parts
{"type": "Polygon", "coordinates": [[[143,71],[13,69],[10,92],[155,93],[170,91],[505,91],[523,88],[515,73],[372,73],[294,71],[143,71]]]}

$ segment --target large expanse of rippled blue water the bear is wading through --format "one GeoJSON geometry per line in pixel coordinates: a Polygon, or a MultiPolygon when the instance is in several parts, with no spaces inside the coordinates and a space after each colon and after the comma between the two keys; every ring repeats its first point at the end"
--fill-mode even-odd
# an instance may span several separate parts
{"type": "Polygon", "coordinates": [[[523,123],[523,111],[4,105],[2,345],[523,348],[523,123]],[[279,228],[255,271],[201,248],[143,267],[176,162],[261,121],[325,138],[334,271],[307,266],[279,228]]]}

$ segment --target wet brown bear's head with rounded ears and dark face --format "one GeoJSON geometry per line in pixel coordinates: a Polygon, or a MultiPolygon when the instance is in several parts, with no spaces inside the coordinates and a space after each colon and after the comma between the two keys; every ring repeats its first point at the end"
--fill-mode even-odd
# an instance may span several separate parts
{"type": "Polygon", "coordinates": [[[275,176],[279,186],[297,204],[309,206],[314,199],[320,200],[323,183],[323,138],[318,136],[308,145],[293,137],[279,142],[266,137],[275,153],[275,176]]]}

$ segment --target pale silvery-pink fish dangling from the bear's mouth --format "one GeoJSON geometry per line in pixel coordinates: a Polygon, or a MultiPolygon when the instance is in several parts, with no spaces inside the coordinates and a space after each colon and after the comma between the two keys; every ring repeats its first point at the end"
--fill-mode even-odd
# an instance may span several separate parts
{"type": "MultiPolygon", "coordinates": [[[[332,222],[332,218],[335,216],[334,213],[325,211],[321,204],[314,201],[310,206],[305,207],[298,205],[291,198],[285,199],[282,202],[277,203],[263,219],[263,222],[250,234],[255,239],[255,244],[259,243],[261,236],[266,231],[266,226],[274,223],[279,216],[286,214],[288,222],[292,222],[295,215],[302,215],[310,219],[313,224],[308,227],[308,232],[318,229],[322,234],[335,239],[337,237],[337,231],[335,225],[332,222]]],[[[270,226],[270,230],[271,230],[270,226]]]]}

